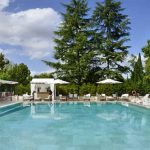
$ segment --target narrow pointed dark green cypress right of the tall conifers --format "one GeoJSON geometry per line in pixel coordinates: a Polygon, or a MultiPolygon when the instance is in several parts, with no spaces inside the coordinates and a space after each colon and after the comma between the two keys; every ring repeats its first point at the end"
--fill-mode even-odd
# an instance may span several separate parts
{"type": "Polygon", "coordinates": [[[131,80],[136,84],[141,84],[143,82],[144,71],[141,60],[141,54],[139,53],[138,60],[134,65],[134,70],[131,75],[131,80]]]}

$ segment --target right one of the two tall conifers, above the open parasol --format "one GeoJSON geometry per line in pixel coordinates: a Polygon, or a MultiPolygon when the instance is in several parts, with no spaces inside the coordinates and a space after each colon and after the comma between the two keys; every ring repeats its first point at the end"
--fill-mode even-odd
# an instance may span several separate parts
{"type": "Polygon", "coordinates": [[[106,77],[121,78],[127,71],[123,61],[128,54],[129,19],[124,15],[121,2],[105,0],[97,3],[92,20],[95,29],[97,56],[106,77]],[[99,42],[98,42],[99,41],[99,42]],[[97,44],[99,43],[99,44],[97,44]]]}

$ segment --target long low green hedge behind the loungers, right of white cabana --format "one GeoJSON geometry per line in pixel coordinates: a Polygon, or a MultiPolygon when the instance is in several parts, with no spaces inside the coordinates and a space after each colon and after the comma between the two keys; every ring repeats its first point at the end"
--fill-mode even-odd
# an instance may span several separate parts
{"type": "MultiPolygon", "coordinates": [[[[79,94],[81,96],[90,93],[92,96],[95,96],[98,94],[106,94],[108,96],[111,96],[112,94],[117,94],[118,96],[121,96],[122,94],[128,93],[129,95],[132,95],[132,91],[135,90],[140,95],[145,95],[146,93],[150,93],[150,86],[146,83],[140,83],[135,84],[131,80],[126,80],[122,84],[98,84],[94,85],[91,83],[88,84],[82,84],[80,86],[80,92],[79,94]]],[[[58,85],[57,86],[57,95],[63,94],[68,95],[69,93],[77,93],[77,85],[70,84],[70,85],[58,85]]]]}

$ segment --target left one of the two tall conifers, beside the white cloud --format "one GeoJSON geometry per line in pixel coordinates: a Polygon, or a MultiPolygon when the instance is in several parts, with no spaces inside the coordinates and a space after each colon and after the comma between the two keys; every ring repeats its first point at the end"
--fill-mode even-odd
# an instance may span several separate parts
{"type": "Polygon", "coordinates": [[[89,8],[86,0],[71,0],[69,4],[64,4],[64,7],[64,21],[55,32],[55,59],[58,62],[45,63],[56,69],[58,77],[81,85],[88,76],[94,55],[89,40],[89,8]]]}

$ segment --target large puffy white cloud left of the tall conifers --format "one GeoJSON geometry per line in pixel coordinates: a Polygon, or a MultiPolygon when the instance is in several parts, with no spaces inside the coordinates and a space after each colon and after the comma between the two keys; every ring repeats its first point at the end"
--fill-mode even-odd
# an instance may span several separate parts
{"type": "MultiPolygon", "coordinates": [[[[6,1],[6,0],[5,0],[6,1]]],[[[9,2],[9,1],[7,1],[9,2]]],[[[0,9],[8,6],[0,2],[0,9]]],[[[54,31],[61,16],[52,8],[36,8],[17,13],[0,10],[0,44],[20,46],[21,55],[42,59],[54,49],[54,31]]]]}

